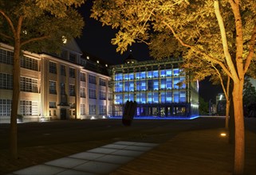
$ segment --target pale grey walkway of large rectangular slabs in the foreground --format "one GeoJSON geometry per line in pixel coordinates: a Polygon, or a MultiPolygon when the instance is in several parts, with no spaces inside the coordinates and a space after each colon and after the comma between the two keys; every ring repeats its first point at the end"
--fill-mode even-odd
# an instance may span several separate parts
{"type": "Polygon", "coordinates": [[[10,173],[10,175],[108,174],[120,167],[120,165],[132,161],[148,150],[152,150],[155,146],[157,144],[145,142],[114,142],[93,150],[73,154],[69,157],[21,169],[10,173]]]}

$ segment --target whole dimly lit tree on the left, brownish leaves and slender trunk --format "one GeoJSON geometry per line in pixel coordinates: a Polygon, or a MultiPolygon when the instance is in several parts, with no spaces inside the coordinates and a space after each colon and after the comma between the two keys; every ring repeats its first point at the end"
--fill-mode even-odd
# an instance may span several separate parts
{"type": "Polygon", "coordinates": [[[79,37],[83,18],[73,9],[84,1],[0,1],[0,35],[14,45],[13,100],[10,116],[10,155],[18,158],[17,115],[20,94],[20,56],[30,52],[56,52],[63,40],[79,37]]]}

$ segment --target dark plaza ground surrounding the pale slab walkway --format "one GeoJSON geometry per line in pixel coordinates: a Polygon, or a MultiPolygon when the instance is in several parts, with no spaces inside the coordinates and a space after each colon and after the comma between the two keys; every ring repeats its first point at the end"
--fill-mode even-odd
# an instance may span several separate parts
{"type": "MultiPolygon", "coordinates": [[[[0,174],[120,140],[160,146],[113,174],[231,174],[233,146],[227,138],[219,138],[224,123],[224,118],[216,117],[134,120],[132,126],[123,126],[115,119],[21,123],[17,161],[9,157],[10,125],[0,124],[0,174]]],[[[256,119],[245,119],[245,123],[246,174],[256,174],[256,119]]]]}

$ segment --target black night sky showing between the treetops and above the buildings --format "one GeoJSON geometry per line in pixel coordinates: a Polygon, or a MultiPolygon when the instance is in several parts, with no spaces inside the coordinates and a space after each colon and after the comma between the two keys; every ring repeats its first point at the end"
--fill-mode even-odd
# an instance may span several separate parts
{"type": "MultiPolygon", "coordinates": [[[[82,51],[89,52],[89,54],[104,60],[108,64],[123,64],[124,59],[128,57],[129,50],[132,50],[132,55],[136,60],[152,60],[152,57],[149,56],[148,46],[143,43],[132,45],[122,55],[120,55],[120,52],[116,52],[116,45],[111,44],[111,39],[115,37],[116,30],[111,29],[110,26],[102,26],[100,21],[89,18],[92,4],[92,1],[88,1],[79,10],[85,20],[83,35],[77,39],[77,44],[82,51]]],[[[199,95],[207,102],[210,99],[215,102],[216,95],[221,92],[223,92],[222,88],[211,85],[208,79],[199,83],[199,95]]]]}

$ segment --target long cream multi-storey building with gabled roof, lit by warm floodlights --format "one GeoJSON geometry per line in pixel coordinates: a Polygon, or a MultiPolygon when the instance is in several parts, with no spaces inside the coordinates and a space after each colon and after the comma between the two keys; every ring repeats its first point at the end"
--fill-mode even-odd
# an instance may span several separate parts
{"type": "MultiPolygon", "coordinates": [[[[10,122],[14,48],[0,43],[0,123],[10,122]]],[[[23,52],[18,114],[41,119],[91,119],[112,114],[108,65],[82,57],[75,41],[61,54],[23,52]]]]}

